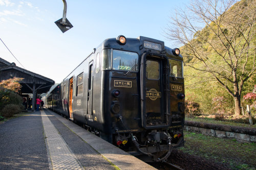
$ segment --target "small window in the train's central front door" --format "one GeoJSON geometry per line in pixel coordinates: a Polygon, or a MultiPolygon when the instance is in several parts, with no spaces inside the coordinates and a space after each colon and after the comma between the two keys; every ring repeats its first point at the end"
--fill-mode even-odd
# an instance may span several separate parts
{"type": "Polygon", "coordinates": [[[146,61],[146,75],[147,79],[159,80],[159,62],[147,60],[146,61]]]}

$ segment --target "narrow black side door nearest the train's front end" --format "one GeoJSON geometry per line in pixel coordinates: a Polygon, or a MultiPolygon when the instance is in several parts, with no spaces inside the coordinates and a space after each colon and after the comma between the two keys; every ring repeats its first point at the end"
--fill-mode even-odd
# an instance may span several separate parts
{"type": "Polygon", "coordinates": [[[89,75],[88,75],[88,98],[87,98],[87,114],[88,119],[92,119],[92,107],[93,107],[93,61],[89,63],[89,75]]]}

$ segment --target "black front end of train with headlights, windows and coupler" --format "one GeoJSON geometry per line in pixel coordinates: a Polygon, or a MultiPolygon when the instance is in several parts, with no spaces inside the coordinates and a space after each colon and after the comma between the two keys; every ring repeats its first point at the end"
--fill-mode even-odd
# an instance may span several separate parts
{"type": "Polygon", "coordinates": [[[104,77],[109,79],[105,89],[111,94],[105,102],[106,108],[110,106],[111,141],[141,159],[164,161],[173,148],[184,145],[179,49],[141,36],[112,41],[104,43],[111,48],[103,47],[103,59],[108,58],[110,65],[104,77]]]}

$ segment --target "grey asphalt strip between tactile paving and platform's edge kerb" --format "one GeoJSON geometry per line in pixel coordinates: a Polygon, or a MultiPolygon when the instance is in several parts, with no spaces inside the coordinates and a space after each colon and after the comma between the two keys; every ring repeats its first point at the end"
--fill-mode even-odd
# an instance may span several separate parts
{"type": "MultiPolygon", "coordinates": [[[[47,111],[45,112],[46,114],[51,115],[47,111]]],[[[63,125],[56,117],[49,116],[49,118],[84,168],[111,170],[115,169],[115,167],[112,166],[110,162],[105,160],[97,151],[95,151],[79,136],[70,131],[70,129],[63,125]]]]}

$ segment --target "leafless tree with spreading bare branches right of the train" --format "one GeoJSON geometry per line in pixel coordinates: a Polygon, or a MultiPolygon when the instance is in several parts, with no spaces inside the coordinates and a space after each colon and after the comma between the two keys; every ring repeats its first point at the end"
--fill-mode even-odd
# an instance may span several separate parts
{"type": "Polygon", "coordinates": [[[241,113],[244,83],[256,74],[256,1],[195,0],[170,18],[166,37],[183,45],[186,65],[210,74],[241,113]],[[203,28],[204,27],[204,28],[203,28]]]}

